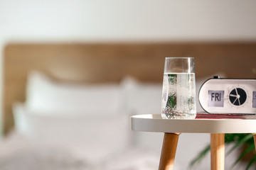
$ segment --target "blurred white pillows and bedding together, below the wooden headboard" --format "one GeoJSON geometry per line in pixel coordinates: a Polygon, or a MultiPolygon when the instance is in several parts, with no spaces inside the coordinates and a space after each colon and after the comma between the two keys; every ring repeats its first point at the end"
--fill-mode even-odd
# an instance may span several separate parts
{"type": "MultiPolygon", "coordinates": [[[[159,113],[161,84],[70,86],[34,73],[26,100],[14,106],[16,130],[0,141],[0,169],[158,169],[163,134],[132,132],[129,116],[159,113]]],[[[181,135],[174,169],[187,169],[208,139],[181,135]]]]}

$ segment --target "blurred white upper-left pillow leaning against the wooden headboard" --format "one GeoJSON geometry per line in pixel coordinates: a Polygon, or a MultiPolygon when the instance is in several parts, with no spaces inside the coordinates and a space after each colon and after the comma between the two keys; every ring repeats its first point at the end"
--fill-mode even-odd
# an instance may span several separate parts
{"type": "Polygon", "coordinates": [[[58,84],[46,75],[33,71],[28,75],[26,106],[43,113],[105,114],[122,108],[122,91],[118,84],[58,84]]]}

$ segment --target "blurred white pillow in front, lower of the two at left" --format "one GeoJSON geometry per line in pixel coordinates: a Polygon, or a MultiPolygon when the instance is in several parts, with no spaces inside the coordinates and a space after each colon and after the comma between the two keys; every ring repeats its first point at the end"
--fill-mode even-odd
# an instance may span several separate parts
{"type": "Polygon", "coordinates": [[[33,145],[65,147],[91,163],[124,151],[130,145],[129,118],[119,116],[38,114],[14,105],[16,130],[33,145]]]}

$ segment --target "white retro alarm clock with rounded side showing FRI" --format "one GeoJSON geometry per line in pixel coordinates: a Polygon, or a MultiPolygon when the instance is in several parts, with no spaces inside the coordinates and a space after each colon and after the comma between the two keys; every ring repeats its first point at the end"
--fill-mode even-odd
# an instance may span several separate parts
{"type": "Polygon", "coordinates": [[[208,79],[199,103],[208,113],[256,114],[256,79],[208,79]]]}

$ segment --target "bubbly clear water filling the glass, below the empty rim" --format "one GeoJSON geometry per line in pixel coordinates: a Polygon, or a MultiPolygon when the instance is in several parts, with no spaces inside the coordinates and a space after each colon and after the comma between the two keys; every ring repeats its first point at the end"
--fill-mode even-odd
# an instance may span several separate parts
{"type": "Polygon", "coordinates": [[[161,105],[162,118],[195,118],[195,74],[165,73],[161,105]]]}

